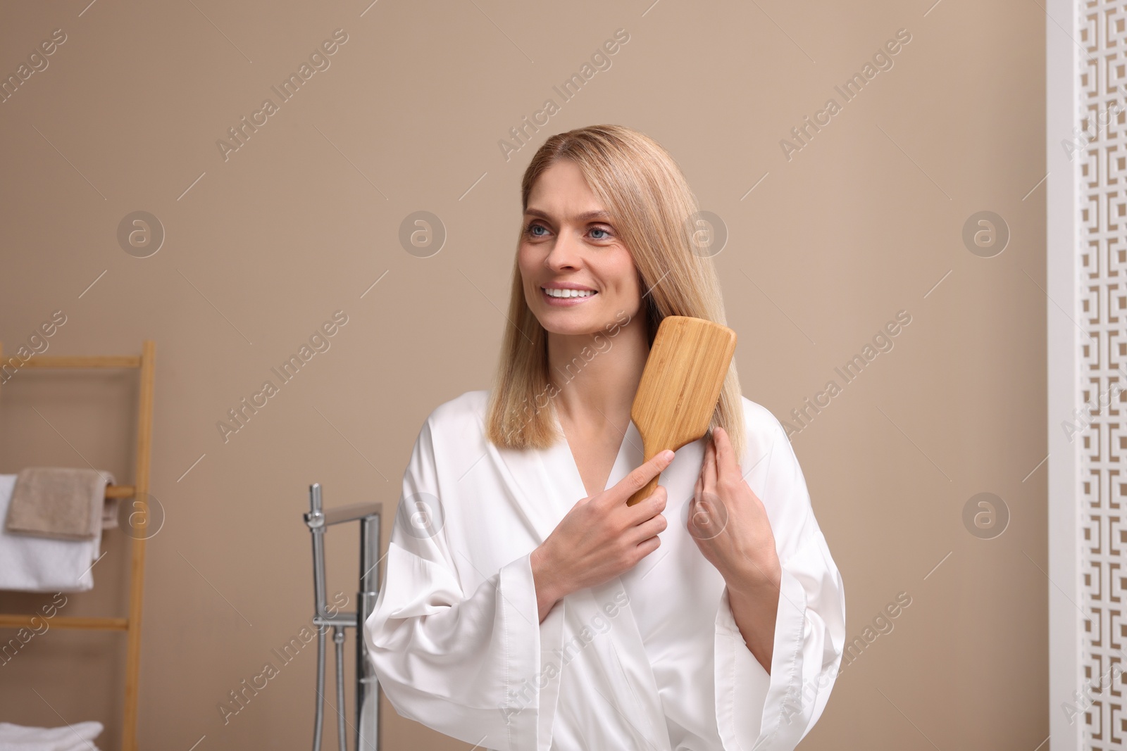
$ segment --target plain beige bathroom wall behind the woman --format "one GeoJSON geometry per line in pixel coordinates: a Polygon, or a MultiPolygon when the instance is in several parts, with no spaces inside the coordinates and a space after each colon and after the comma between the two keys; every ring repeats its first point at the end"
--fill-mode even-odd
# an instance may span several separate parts
{"type": "MultiPolygon", "coordinates": [[[[780,419],[898,311],[912,316],[795,439],[849,637],[898,592],[912,598],[841,674],[802,748],[1031,750],[1048,734],[1045,465],[1030,472],[1046,455],[1051,303],[1044,186],[1027,197],[1045,175],[1042,12],[649,1],[383,0],[361,16],[365,0],[79,0],[0,14],[5,75],[66,35],[0,104],[5,352],[55,310],[66,323],[48,354],[157,342],[152,492],[167,521],[149,545],[142,748],[203,735],[201,751],[308,746],[312,645],[227,725],[216,708],[311,616],[307,488],[394,509],[429,411],[488,385],[524,166],[547,134],[593,123],[657,138],[724,218],[744,394],[780,419]],[[277,100],[270,87],[338,28],[348,38],[330,68],[224,161],[216,140],[277,100]],[[619,28],[629,42],[612,66],[561,102],[552,86],[619,28]],[[788,161],[779,141],[841,102],[833,87],[900,28],[912,41],[894,68],[788,161]],[[506,161],[498,140],[547,98],[559,111],[506,161]],[[425,259],[398,241],[419,209],[449,232],[425,259]],[[994,258],[961,240],[983,209],[1011,232],[994,258]],[[134,211],[167,233],[149,258],[117,242],[134,211]],[[224,442],[216,421],[338,310],[348,323],[331,348],[224,442]],[[961,518],[985,491],[1011,515],[994,539],[961,518]]],[[[19,372],[0,394],[0,472],[81,466],[81,454],[127,482],[134,384],[19,372]]],[[[330,591],[350,592],[354,537],[334,530],[329,544],[330,591]]],[[[106,549],[70,615],[124,613],[119,533],[106,549]]],[[[3,593],[0,608],[46,599],[3,593]]],[[[100,719],[99,745],[116,748],[123,645],[36,638],[0,668],[0,721],[100,719]]],[[[467,748],[384,708],[387,748],[467,748]]]]}

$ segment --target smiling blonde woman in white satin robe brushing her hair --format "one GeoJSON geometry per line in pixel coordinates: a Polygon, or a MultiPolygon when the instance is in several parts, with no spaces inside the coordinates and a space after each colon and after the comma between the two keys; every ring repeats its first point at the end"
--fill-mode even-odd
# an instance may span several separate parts
{"type": "Polygon", "coordinates": [[[792,749],[845,601],[790,441],[735,364],[675,455],[642,463],[630,420],[660,320],[725,323],[695,198],[614,125],[548,138],[522,198],[492,387],[435,409],[403,475],[365,624],[383,690],[477,748],[792,749]]]}

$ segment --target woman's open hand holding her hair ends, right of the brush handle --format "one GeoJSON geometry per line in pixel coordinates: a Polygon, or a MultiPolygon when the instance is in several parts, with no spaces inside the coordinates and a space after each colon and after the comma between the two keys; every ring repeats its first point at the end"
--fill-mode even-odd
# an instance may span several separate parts
{"type": "Polygon", "coordinates": [[[744,480],[724,428],[712,430],[689,502],[689,533],[730,591],[778,590],[781,578],[774,535],[763,501],[744,480]]]}

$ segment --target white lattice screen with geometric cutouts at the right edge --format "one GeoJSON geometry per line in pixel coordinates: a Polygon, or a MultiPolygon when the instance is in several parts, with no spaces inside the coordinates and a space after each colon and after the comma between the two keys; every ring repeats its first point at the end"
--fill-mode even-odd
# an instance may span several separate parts
{"type": "Polygon", "coordinates": [[[1127,587],[1127,2],[1077,2],[1082,679],[1084,748],[1124,749],[1127,587]],[[1088,417],[1090,414],[1091,417],[1088,417]],[[1083,700],[1088,704],[1088,700],[1083,700]]]}

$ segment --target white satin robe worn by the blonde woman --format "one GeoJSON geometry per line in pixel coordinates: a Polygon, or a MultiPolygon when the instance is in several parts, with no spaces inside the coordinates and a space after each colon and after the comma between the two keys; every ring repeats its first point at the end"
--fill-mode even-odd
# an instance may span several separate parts
{"type": "MultiPolygon", "coordinates": [[[[580,498],[566,440],[497,448],[486,391],[427,418],[403,474],[375,610],[364,624],[400,715],[481,749],[777,751],[822,715],[845,641],[841,574],[779,421],[743,399],[740,468],[782,566],[771,673],[748,651],[720,573],[685,528],[704,440],[662,473],[662,545],[538,623],[529,555],[580,498]]],[[[642,463],[631,422],[606,486],[642,463]]]]}

